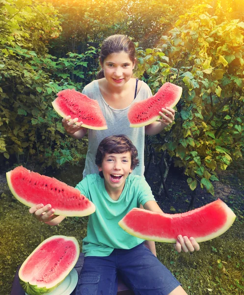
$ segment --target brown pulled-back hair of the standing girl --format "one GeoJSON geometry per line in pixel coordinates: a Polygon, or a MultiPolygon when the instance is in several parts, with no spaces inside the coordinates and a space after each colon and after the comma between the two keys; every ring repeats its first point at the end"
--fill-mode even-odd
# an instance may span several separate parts
{"type": "MultiPolygon", "coordinates": [[[[135,63],[136,49],[132,40],[125,35],[111,35],[103,41],[100,62],[103,65],[104,60],[112,53],[119,53],[121,51],[126,52],[129,58],[135,63]]],[[[104,78],[104,70],[100,70],[97,73],[97,79],[104,78]]]]}

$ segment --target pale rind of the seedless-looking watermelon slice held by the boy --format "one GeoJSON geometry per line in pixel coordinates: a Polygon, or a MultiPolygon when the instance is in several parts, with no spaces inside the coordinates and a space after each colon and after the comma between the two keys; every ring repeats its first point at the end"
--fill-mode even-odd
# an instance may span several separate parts
{"type": "MultiPolygon", "coordinates": [[[[224,202],[222,202],[220,199],[218,199],[217,201],[221,202],[220,203],[220,207],[226,212],[226,215],[227,215],[227,220],[224,224],[224,226],[222,226],[221,228],[219,228],[218,231],[210,234],[210,235],[207,235],[207,236],[198,236],[198,237],[194,237],[195,240],[199,243],[199,242],[204,242],[204,241],[208,241],[210,239],[213,239],[213,238],[216,238],[217,236],[220,236],[222,235],[223,233],[225,233],[231,226],[232,224],[234,223],[235,219],[236,219],[236,215],[235,213],[231,210],[231,208],[229,208],[224,202]]],[[[215,201],[215,202],[217,202],[215,201]]],[[[214,202],[212,202],[214,203],[214,202]]],[[[211,203],[210,203],[211,204],[211,203]]],[[[209,206],[210,204],[208,205],[205,205],[205,206],[209,206]]],[[[204,206],[204,207],[205,207],[204,206]]],[[[200,208],[199,208],[200,209],[200,208]]],[[[197,210],[197,209],[196,209],[197,210]]],[[[136,236],[136,237],[139,237],[141,239],[145,239],[145,240],[151,240],[151,241],[156,241],[156,242],[165,242],[165,243],[175,243],[176,242],[176,238],[167,238],[167,237],[159,237],[159,236],[152,236],[152,235],[145,235],[145,234],[141,234],[140,232],[136,232],[134,231],[133,229],[131,229],[129,226],[127,226],[126,224],[126,218],[128,216],[130,216],[131,213],[133,213],[133,211],[137,211],[137,212],[141,212],[142,214],[143,213],[146,213],[147,214],[147,218],[149,215],[153,215],[153,214],[160,214],[160,215],[167,215],[169,216],[170,218],[177,218],[177,215],[181,215],[182,214],[184,215],[184,213],[180,213],[180,214],[166,214],[166,213],[161,213],[161,212],[153,212],[153,211],[149,211],[149,210],[145,210],[145,209],[140,209],[140,208],[133,208],[130,212],[128,212],[120,221],[119,221],[119,226],[124,230],[126,231],[128,234],[132,235],[132,236],[136,236]]],[[[192,214],[194,214],[195,210],[191,210],[192,214]]],[[[188,212],[187,212],[188,213],[188,212]]],[[[197,212],[195,213],[197,214],[197,212]]],[[[197,229],[196,229],[197,231],[197,229]]],[[[179,233],[180,235],[181,233],[179,233]]]]}

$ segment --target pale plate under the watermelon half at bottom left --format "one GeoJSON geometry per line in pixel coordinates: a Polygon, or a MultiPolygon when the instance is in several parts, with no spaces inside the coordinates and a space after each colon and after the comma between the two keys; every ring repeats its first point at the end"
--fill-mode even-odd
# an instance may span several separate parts
{"type": "MultiPolygon", "coordinates": [[[[64,281],[57,286],[54,291],[48,293],[48,295],[70,295],[76,288],[78,282],[78,273],[75,268],[66,276],[64,281]]],[[[25,293],[28,295],[27,293],[25,293]]]]}

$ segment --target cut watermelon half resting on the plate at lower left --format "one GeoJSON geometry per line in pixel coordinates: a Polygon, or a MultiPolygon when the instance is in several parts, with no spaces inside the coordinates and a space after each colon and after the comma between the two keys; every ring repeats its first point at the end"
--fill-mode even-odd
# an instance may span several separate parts
{"type": "Polygon", "coordinates": [[[79,243],[73,236],[45,239],[20,267],[22,288],[28,295],[52,292],[73,269],[79,255],[79,243]]]}

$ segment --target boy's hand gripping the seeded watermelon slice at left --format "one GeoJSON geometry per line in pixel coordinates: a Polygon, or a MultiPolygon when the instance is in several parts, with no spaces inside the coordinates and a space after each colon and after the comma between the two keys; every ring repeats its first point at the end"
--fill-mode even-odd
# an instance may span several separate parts
{"type": "Polygon", "coordinates": [[[44,206],[43,204],[38,204],[29,208],[29,213],[40,222],[49,222],[56,218],[58,215],[54,215],[55,210],[50,204],[44,206]]]}

